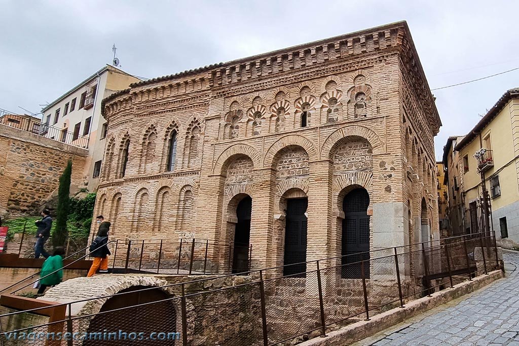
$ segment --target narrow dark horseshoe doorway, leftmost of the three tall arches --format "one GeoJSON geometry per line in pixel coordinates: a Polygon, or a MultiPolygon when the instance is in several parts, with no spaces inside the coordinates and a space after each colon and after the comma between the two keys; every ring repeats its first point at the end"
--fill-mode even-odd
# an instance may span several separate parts
{"type": "Polygon", "coordinates": [[[233,273],[249,270],[249,241],[251,236],[252,198],[243,198],[236,208],[238,222],[234,231],[233,273]]]}

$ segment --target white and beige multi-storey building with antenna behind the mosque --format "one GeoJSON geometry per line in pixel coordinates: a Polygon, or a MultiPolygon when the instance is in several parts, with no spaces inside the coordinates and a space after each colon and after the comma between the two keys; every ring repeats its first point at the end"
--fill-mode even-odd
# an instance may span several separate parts
{"type": "Polygon", "coordinates": [[[139,81],[119,68],[106,65],[42,109],[40,134],[88,149],[83,175],[90,191],[95,191],[98,185],[107,131],[101,102],[113,92],[139,81]]]}

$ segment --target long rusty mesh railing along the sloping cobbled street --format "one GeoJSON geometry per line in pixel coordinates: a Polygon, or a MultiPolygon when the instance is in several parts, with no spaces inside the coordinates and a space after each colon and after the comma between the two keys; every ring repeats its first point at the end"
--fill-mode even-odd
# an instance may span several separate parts
{"type": "MultiPolygon", "coordinates": [[[[135,293],[146,295],[157,287],[64,303],[56,305],[66,306],[69,311],[61,319],[35,326],[23,326],[18,321],[16,329],[3,328],[0,338],[8,342],[7,336],[12,337],[15,331],[36,334],[61,331],[72,335],[97,334],[104,329],[108,333],[119,331],[119,336],[121,332],[149,336],[157,331],[178,331],[183,346],[297,343],[325,336],[330,330],[360,320],[369,320],[370,316],[391,308],[403,308],[407,301],[431,295],[436,288],[454,287],[499,268],[495,234],[490,237],[470,234],[367,254],[367,258],[360,261],[344,260],[358,254],[308,261],[304,273],[293,275],[283,275],[285,266],[250,271],[250,282],[234,282],[228,287],[221,283],[232,275],[169,284],[158,288],[173,292],[173,296],[140,301],[127,307],[120,305],[126,297],[135,293]],[[476,259],[478,248],[482,260],[476,259]],[[348,273],[348,279],[344,273],[348,273]],[[216,285],[218,282],[220,286],[216,285]],[[75,305],[84,306],[96,299],[119,299],[119,305],[97,313],[72,315],[75,305]],[[218,333],[210,321],[218,321],[218,333]]],[[[297,264],[291,266],[294,265],[297,264]]],[[[38,314],[42,309],[0,315],[0,327],[8,325],[9,320],[19,314],[38,314]]],[[[126,339],[110,340],[115,345],[128,343],[126,339]]],[[[17,342],[17,345],[45,344],[45,340],[17,342]]],[[[72,339],[66,344],[81,342],[84,345],[100,344],[72,339]]],[[[172,344],[172,341],[149,344],[172,344]]]]}

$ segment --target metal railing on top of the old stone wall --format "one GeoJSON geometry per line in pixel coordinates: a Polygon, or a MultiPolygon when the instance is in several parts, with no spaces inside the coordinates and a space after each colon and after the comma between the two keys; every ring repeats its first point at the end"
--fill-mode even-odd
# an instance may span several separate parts
{"type": "Polygon", "coordinates": [[[60,129],[46,123],[36,121],[34,118],[19,115],[5,115],[0,118],[0,123],[16,129],[27,131],[39,136],[44,136],[54,141],[74,145],[81,148],[88,148],[88,136],[74,133],[73,129],[60,129]]]}

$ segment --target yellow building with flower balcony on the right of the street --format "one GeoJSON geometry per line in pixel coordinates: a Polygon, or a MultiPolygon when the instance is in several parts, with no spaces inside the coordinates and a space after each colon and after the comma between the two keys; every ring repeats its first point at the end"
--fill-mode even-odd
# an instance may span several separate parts
{"type": "Polygon", "coordinates": [[[505,92],[476,126],[458,141],[459,179],[467,230],[481,230],[483,172],[491,224],[503,246],[519,243],[519,89],[505,92]],[[479,153],[479,154],[478,154],[479,153]]]}

